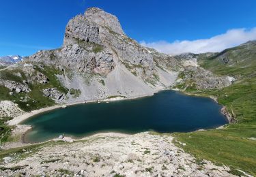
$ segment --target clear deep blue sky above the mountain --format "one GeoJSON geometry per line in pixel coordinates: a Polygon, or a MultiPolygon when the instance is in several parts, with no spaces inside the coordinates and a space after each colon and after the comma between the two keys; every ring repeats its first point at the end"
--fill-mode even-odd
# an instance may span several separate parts
{"type": "Polygon", "coordinates": [[[217,51],[256,36],[254,0],[1,0],[0,56],[27,56],[40,49],[58,48],[68,20],[91,6],[115,14],[127,35],[145,46],[166,48],[162,52],[177,48],[186,52],[191,45],[197,45],[195,52],[217,51]],[[235,31],[230,33],[230,29],[235,31]],[[225,42],[239,40],[217,49],[198,50],[201,39],[205,43],[217,36],[219,42],[214,44],[224,44],[223,35],[225,42]]]}

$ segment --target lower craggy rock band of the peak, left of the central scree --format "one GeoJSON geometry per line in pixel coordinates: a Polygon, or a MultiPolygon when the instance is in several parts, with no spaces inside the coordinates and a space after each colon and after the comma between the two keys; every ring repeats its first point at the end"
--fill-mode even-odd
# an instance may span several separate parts
{"type": "Polygon", "coordinates": [[[44,59],[46,65],[55,65],[55,67],[78,71],[81,74],[84,72],[109,74],[115,67],[111,52],[102,50],[99,46],[94,46],[94,44],[89,45],[87,46],[88,48],[83,48],[78,44],[63,46],[59,50],[40,51],[31,57],[33,61],[40,62],[44,59]],[[94,52],[94,50],[98,51],[94,52]]]}

